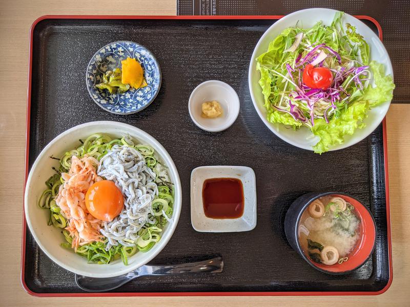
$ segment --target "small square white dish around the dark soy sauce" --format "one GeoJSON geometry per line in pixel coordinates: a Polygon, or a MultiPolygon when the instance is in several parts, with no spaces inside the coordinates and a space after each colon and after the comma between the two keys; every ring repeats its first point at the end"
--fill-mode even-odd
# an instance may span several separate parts
{"type": "Polygon", "coordinates": [[[191,223],[199,232],[250,231],[256,226],[256,177],[248,166],[200,166],[191,172],[191,223]],[[211,178],[236,178],[242,182],[244,206],[238,218],[210,218],[203,212],[202,186],[211,178]]]}

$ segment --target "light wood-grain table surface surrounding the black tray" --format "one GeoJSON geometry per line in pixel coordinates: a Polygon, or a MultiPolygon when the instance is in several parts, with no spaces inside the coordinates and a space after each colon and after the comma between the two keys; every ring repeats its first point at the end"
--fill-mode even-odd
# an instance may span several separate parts
{"type": "Polygon", "coordinates": [[[393,104],[387,113],[388,172],[393,246],[393,283],[378,296],[339,297],[134,297],[35,298],[20,283],[20,248],[25,164],[29,29],[46,14],[175,15],[176,0],[51,1],[0,0],[0,305],[72,306],[75,304],[142,306],[201,305],[410,305],[410,104],[393,104]]]}

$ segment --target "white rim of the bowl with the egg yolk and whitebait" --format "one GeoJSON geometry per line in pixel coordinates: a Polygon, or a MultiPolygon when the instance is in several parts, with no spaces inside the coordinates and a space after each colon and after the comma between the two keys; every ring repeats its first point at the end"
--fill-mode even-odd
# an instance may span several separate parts
{"type": "MultiPolygon", "coordinates": [[[[181,202],[182,202],[182,191],[181,191],[181,183],[180,183],[180,179],[179,179],[179,175],[178,175],[178,171],[176,169],[176,166],[171,158],[171,156],[169,155],[169,153],[167,152],[167,150],[156,140],[154,139],[151,135],[149,135],[148,133],[146,133],[144,130],[141,130],[137,127],[134,127],[132,125],[129,124],[125,124],[125,123],[119,123],[119,122],[115,122],[115,121],[94,121],[94,122],[88,122],[88,123],[84,123],[84,124],[80,124],[77,125],[75,127],[72,127],[66,131],[64,131],[63,133],[61,133],[60,135],[58,135],[57,137],[55,137],[49,144],[47,144],[47,146],[39,153],[38,157],[36,158],[35,162],[33,163],[33,166],[31,167],[29,176],[27,178],[27,182],[26,182],[26,191],[25,191],[25,195],[24,195],[24,212],[25,212],[25,218],[26,218],[26,223],[27,226],[30,229],[31,234],[33,235],[36,243],[38,244],[38,246],[40,247],[40,249],[42,249],[42,251],[51,259],[53,260],[57,265],[59,265],[60,267],[71,271],[73,273],[79,274],[79,275],[85,275],[85,276],[90,276],[90,277],[99,277],[99,278],[103,278],[103,277],[114,277],[114,276],[118,276],[118,275],[122,275],[122,274],[126,274],[129,273],[131,271],[134,271],[135,269],[139,268],[140,266],[143,266],[145,264],[147,264],[147,262],[151,261],[155,256],[157,256],[160,251],[167,245],[167,243],[169,242],[169,240],[171,239],[172,234],[175,231],[175,228],[178,224],[178,220],[179,220],[179,215],[180,215],[180,211],[181,211],[181,202]],[[148,139],[150,141],[150,144],[148,145],[154,145],[155,149],[159,149],[158,154],[161,158],[163,158],[164,160],[167,160],[167,166],[169,168],[169,173],[173,173],[174,177],[175,177],[175,182],[173,183],[175,186],[175,202],[174,202],[174,212],[173,212],[173,222],[170,225],[170,230],[167,233],[166,236],[161,237],[161,239],[159,240],[159,242],[156,244],[156,249],[155,251],[152,252],[152,254],[147,257],[147,259],[145,261],[139,261],[139,262],[135,262],[133,264],[130,264],[128,266],[124,266],[125,269],[124,270],[120,270],[117,272],[110,272],[110,273],[98,273],[98,270],[95,270],[97,272],[86,272],[80,269],[77,269],[73,266],[71,266],[70,264],[67,264],[66,262],[63,261],[59,261],[58,259],[56,259],[53,256],[53,253],[50,252],[47,248],[45,248],[45,246],[42,244],[42,240],[39,238],[38,234],[36,233],[36,231],[33,229],[31,220],[30,220],[30,216],[28,216],[28,206],[37,206],[37,204],[29,204],[28,203],[28,197],[29,197],[29,193],[30,193],[30,183],[33,180],[36,168],[38,167],[38,164],[40,162],[40,158],[43,157],[45,155],[45,153],[48,152],[49,148],[53,145],[54,142],[56,142],[59,139],[64,138],[66,135],[71,134],[73,131],[78,131],[90,126],[98,126],[98,125],[103,125],[103,126],[114,126],[117,128],[123,128],[123,129],[127,129],[127,130],[133,130],[134,133],[136,135],[139,135],[141,137],[144,137],[146,139],[148,139]]],[[[39,209],[39,208],[38,208],[39,209]]],[[[41,210],[41,209],[39,209],[41,210]]],[[[47,221],[44,221],[45,226],[47,226],[47,221]]],[[[47,226],[49,227],[49,226],[47,226]]],[[[50,226],[51,227],[51,226],[50,226]]],[[[67,252],[71,252],[71,251],[67,251],[67,252]]],[[[148,251],[147,253],[150,253],[150,251],[148,251]]],[[[81,258],[81,256],[76,255],[78,257],[81,258]]],[[[90,264],[90,266],[98,266],[95,264],[90,264]]]]}

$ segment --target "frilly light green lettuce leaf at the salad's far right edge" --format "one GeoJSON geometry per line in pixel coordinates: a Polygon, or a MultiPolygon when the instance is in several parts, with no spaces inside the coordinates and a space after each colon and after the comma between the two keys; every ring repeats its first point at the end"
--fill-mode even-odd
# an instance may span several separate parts
{"type": "Polygon", "coordinates": [[[370,69],[373,73],[375,87],[368,85],[363,93],[363,100],[368,100],[371,107],[378,106],[393,99],[395,85],[391,75],[384,74],[384,65],[376,61],[370,62],[370,69]]]}

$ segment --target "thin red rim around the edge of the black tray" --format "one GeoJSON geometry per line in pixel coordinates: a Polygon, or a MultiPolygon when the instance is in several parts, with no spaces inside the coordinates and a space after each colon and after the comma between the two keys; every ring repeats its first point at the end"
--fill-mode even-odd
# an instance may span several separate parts
{"type": "MultiPolygon", "coordinates": [[[[24,194],[26,190],[27,177],[29,172],[29,146],[30,146],[30,107],[31,107],[31,74],[32,74],[32,56],[33,56],[33,33],[37,24],[45,19],[280,19],[284,15],[44,15],[37,18],[30,27],[29,37],[29,72],[28,72],[28,89],[27,89],[27,113],[26,113],[26,164],[25,178],[23,188],[23,232],[22,232],[22,257],[20,281],[24,290],[37,297],[118,297],[118,296],[332,296],[332,295],[379,295],[388,290],[393,281],[393,264],[392,264],[392,236],[390,227],[390,201],[388,186],[388,159],[387,159],[387,131],[386,118],[383,119],[383,153],[384,153],[384,176],[386,184],[386,218],[387,218],[387,243],[389,259],[389,279],[386,286],[379,291],[325,291],[325,292],[117,292],[117,293],[37,293],[30,290],[25,281],[25,256],[26,256],[26,218],[24,211],[24,194]]],[[[354,15],[358,19],[371,21],[377,27],[380,40],[383,40],[382,29],[378,21],[367,15],[354,15]]]]}

